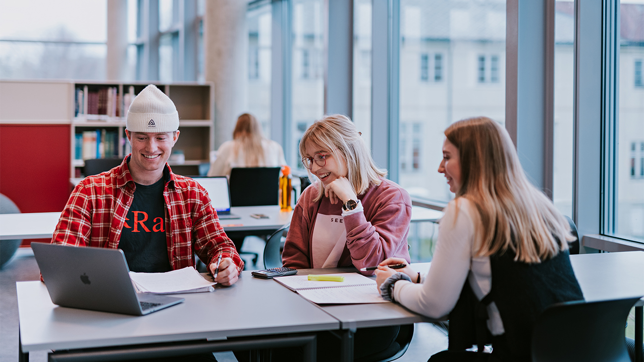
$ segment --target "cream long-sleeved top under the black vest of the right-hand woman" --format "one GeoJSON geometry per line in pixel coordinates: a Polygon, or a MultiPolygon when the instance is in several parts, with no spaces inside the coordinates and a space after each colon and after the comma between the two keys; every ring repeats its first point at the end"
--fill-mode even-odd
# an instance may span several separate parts
{"type": "MultiPolygon", "coordinates": [[[[455,307],[466,280],[478,300],[486,296],[492,286],[489,257],[475,258],[475,225],[480,216],[474,204],[466,198],[457,198],[444,209],[439,222],[430,271],[421,284],[397,281],[393,298],[408,309],[431,318],[445,316],[455,307]]],[[[497,306],[488,306],[488,329],[493,336],[504,333],[497,306]]]]}

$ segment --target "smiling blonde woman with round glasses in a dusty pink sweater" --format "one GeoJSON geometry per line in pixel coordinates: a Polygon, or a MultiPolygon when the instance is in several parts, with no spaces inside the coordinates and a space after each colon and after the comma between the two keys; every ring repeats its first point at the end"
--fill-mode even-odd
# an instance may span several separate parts
{"type": "MultiPolygon", "coordinates": [[[[299,143],[302,163],[317,180],[298,200],[284,245],[285,267],[374,267],[386,258],[410,262],[412,201],[384,178],[354,123],[344,115],[316,120],[299,143]]],[[[373,271],[363,272],[371,275],[373,271]]],[[[381,360],[399,350],[399,326],[359,329],[355,358],[381,360]]],[[[337,361],[339,339],[318,334],[318,361],[337,361]],[[333,347],[335,346],[335,347],[333,347]]],[[[292,358],[292,351],[285,356],[292,358]]]]}

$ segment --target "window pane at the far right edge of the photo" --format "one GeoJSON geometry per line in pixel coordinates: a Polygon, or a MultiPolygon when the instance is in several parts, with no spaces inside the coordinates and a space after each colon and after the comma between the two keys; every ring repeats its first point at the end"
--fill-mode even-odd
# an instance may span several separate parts
{"type": "Polygon", "coordinates": [[[622,1],[620,10],[617,198],[614,230],[607,233],[644,242],[644,4],[622,1]]]}

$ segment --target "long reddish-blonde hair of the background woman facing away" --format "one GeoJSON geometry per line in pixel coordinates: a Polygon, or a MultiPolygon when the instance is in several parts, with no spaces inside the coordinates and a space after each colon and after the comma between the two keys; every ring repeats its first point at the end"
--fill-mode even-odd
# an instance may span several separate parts
{"type": "Polygon", "coordinates": [[[257,167],[263,164],[264,148],[261,147],[263,140],[260,123],[251,113],[243,113],[237,119],[232,139],[236,140],[234,147],[234,157],[238,157],[243,149],[244,162],[246,167],[257,167]]]}

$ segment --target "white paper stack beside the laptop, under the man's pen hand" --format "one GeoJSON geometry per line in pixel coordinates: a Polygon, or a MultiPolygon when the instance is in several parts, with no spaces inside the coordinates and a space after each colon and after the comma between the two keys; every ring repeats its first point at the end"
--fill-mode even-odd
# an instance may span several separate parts
{"type": "Polygon", "coordinates": [[[138,292],[176,294],[213,292],[213,281],[207,281],[194,267],[169,272],[129,272],[138,292]]]}

